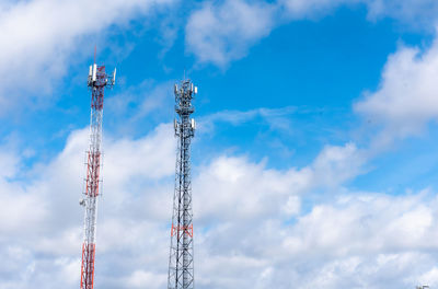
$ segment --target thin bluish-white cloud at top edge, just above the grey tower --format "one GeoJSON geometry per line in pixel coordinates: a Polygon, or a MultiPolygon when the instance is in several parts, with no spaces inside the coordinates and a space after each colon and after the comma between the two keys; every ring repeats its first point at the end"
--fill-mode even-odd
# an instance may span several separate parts
{"type": "Polygon", "coordinates": [[[227,0],[219,5],[206,2],[193,12],[185,32],[187,50],[200,62],[226,68],[230,60],[267,36],[274,26],[274,8],[264,2],[227,0]]]}

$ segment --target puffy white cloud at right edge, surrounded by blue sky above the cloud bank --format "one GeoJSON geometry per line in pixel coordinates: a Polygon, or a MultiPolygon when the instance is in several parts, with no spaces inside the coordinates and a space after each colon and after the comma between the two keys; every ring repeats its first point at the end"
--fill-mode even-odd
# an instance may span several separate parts
{"type": "Polygon", "coordinates": [[[355,111],[383,126],[380,142],[417,135],[438,117],[438,42],[422,51],[402,46],[391,55],[381,83],[355,104],[355,111]]]}

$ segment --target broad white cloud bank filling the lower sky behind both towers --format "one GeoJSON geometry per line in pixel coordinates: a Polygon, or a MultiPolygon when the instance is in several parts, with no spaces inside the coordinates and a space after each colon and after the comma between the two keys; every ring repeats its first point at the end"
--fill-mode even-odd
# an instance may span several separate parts
{"type": "MultiPolygon", "coordinates": [[[[73,131],[57,158],[35,166],[39,173],[30,183],[2,176],[0,199],[11,208],[2,211],[0,222],[0,256],[8,259],[0,266],[2,288],[79,285],[78,176],[84,171],[87,143],[87,129],[73,131]]],[[[108,137],[104,148],[95,286],[165,287],[172,126],[160,125],[139,139],[108,137]]],[[[437,199],[428,190],[350,195],[344,184],[361,173],[364,158],[347,143],[323,148],[300,169],[275,170],[227,154],[197,169],[197,286],[395,289],[424,280],[434,285],[438,269],[430,252],[438,231],[437,199]],[[316,204],[315,192],[322,194],[316,204]]]]}

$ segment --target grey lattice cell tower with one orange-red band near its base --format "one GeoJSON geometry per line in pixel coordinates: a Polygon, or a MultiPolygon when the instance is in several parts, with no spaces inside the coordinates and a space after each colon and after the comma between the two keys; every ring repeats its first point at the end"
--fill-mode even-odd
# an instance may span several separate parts
{"type": "Polygon", "coordinates": [[[171,228],[171,250],[169,259],[169,289],[194,288],[193,264],[193,212],[191,181],[191,140],[195,135],[195,112],[192,100],[197,88],[184,80],[181,88],[175,84],[175,136],[178,138],[176,152],[175,192],[171,228]]]}

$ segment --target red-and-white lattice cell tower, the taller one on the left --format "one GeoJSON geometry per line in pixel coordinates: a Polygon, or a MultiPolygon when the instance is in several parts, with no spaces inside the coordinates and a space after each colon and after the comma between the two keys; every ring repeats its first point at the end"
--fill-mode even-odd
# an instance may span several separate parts
{"type": "Polygon", "coordinates": [[[114,69],[112,79],[105,72],[105,67],[90,66],[88,86],[91,90],[91,118],[90,118],[90,150],[88,151],[84,199],[80,205],[85,208],[84,238],[82,244],[81,289],[93,289],[94,284],[94,256],[96,236],[97,196],[101,173],[101,143],[104,89],[113,88],[116,78],[114,69]]]}

